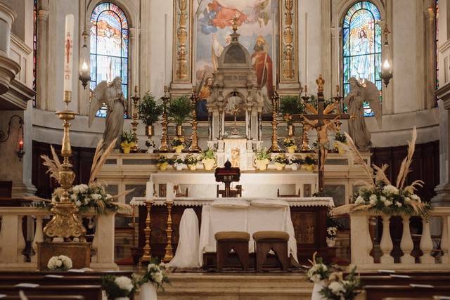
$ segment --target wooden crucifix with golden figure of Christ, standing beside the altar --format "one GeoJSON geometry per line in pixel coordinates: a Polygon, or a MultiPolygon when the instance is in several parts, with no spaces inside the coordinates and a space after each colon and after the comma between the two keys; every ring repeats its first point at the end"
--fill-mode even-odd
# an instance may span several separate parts
{"type": "MultiPolygon", "coordinates": [[[[328,153],[328,129],[337,130],[340,124],[340,119],[349,119],[349,115],[342,113],[341,100],[339,95],[333,97],[335,100],[333,103],[323,107],[325,98],[323,98],[323,84],[325,80],[322,78],[322,74],[319,74],[319,78],[316,79],[317,84],[317,108],[306,103],[306,109],[311,112],[307,115],[293,115],[293,119],[298,119],[304,122],[303,130],[316,129],[317,131],[317,164],[319,169],[319,194],[323,192],[323,169],[325,167],[326,155],[328,153]],[[333,114],[334,110],[338,110],[338,113],[333,114]],[[306,124],[305,124],[306,123],[306,124]]],[[[336,86],[336,91],[339,94],[339,87],[336,86]]],[[[309,97],[302,97],[304,100],[309,97]]],[[[306,102],[306,101],[305,101],[306,102]]]]}

